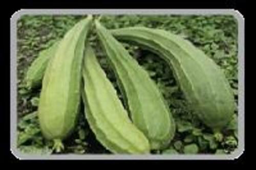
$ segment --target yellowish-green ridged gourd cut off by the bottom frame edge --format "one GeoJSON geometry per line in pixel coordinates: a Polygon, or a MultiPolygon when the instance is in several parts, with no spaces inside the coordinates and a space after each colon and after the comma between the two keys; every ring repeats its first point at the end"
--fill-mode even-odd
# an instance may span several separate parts
{"type": "Polygon", "coordinates": [[[82,77],[85,115],[98,141],[115,154],[149,153],[147,138],[131,122],[89,43],[84,52],[82,77]]]}

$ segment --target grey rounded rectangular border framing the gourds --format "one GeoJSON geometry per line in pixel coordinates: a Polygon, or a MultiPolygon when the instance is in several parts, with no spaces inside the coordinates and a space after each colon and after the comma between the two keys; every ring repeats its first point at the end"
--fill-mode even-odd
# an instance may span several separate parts
{"type": "Polygon", "coordinates": [[[24,159],[189,159],[189,160],[211,160],[211,159],[238,159],[244,152],[244,18],[239,11],[231,9],[22,9],[16,11],[11,17],[11,63],[10,63],[10,111],[11,111],[11,153],[20,160],[24,159]],[[23,15],[85,15],[85,14],[178,14],[178,15],[233,15],[238,20],[238,64],[239,64],[239,105],[238,105],[238,149],[230,155],[32,155],[24,154],[17,150],[16,127],[17,127],[17,20],[23,15]]]}

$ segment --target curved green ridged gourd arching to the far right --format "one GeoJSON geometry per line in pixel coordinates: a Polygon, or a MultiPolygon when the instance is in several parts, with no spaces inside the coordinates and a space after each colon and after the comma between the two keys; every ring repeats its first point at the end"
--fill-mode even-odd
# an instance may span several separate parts
{"type": "Polygon", "coordinates": [[[234,98],[219,66],[192,43],[164,30],[144,27],[112,31],[157,53],[174,69],[176,79],[195,113],[216,133],[230,121],[234,98]]]}

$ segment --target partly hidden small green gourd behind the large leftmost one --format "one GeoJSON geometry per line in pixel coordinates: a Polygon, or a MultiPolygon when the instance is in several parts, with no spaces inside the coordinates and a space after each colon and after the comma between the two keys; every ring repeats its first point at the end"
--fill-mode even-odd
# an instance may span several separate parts
{"type": "Polygon", "coordinates": [[[28,90],[41,85],[49,60],[54,56],[58,43],[59,41],[56,41],[51,47],[41,51],[28,68],[25,76],[25,84],[28,90]]]}

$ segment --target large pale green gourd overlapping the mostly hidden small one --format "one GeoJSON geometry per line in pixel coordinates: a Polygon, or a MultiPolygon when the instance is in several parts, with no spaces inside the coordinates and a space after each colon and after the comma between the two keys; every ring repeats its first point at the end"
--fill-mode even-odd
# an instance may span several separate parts
{"type": "Polygon", "coordinates": [[[42,134],[63,149],[61,140],[71,134],[80,108],[81,68],[84,41],[92,16],[79,21],[59,42],[48,64],[40,93],[38,118],[42,134]]]}

